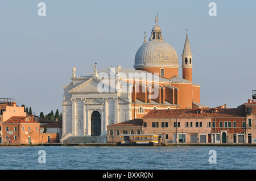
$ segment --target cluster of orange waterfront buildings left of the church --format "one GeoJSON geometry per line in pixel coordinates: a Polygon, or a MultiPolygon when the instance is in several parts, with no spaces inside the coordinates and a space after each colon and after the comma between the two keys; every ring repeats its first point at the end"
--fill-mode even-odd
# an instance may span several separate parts
{"type": "Polygon", "coordinates": [[[39,144],[59,142],[59,133],[40,133],[40,123],[14,99],[0,99],[0,143],[39,144]]]}

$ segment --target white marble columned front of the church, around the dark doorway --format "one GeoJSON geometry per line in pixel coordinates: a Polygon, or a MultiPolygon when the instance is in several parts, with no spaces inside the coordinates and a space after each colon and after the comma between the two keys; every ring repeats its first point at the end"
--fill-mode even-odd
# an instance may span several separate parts
{"type": "Polygon", "coordinates": [[[106,133],[107,125],[131,119],[129,92],[99,92],[98,83],[101,81],[95,74],[72,75],[71,79],[72,82],[63,87],[63,134],[84,136],[86,132],[88,136],[93,135],[94,111],[100,113],[100,135],[106,133]]]}

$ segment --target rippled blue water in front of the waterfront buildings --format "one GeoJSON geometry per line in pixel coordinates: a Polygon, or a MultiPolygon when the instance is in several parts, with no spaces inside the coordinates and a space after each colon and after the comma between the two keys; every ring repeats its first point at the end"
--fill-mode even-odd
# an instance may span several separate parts
{"type": "Polygon", "coordinates": [[[254,146],[0,146],[0,170],[256,169],[254,146]],[[46,163],[39,163],[39,150],[46,163]],[[209,163],[209,151],[217,163],[209,163]]]}

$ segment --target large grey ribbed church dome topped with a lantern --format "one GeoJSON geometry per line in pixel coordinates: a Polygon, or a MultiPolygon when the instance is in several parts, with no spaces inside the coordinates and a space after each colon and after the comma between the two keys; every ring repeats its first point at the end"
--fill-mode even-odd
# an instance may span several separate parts
{"type": "Polygon", "coordinates": [[[146,42],[145,39],[135,55],[135,69],[148,67],[179,68],[176,50],[163,40],[157,19],[149,41],[146,42]]]}

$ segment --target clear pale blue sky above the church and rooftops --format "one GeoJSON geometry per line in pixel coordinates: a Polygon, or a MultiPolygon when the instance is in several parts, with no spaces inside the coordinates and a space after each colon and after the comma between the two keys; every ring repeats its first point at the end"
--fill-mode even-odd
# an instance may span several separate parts
{"type": "Polygon", "coordinates": [[[193,82],[200,103],[240,106],[256,90],[256,1],[50,1],[0,2],[0,98],[13,98],[35,115],[62,111],[63,86],[76,75],[110,66],[134,69],[134,58],[155,25],[181,54],[186,31],[193,54],[193,82]],[[40,2],[46,16],[39,16],[40,2]],[[210,16],[209,3],[216,3],[210,16]]]}

